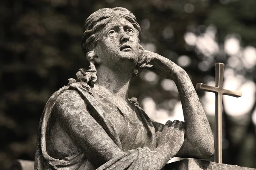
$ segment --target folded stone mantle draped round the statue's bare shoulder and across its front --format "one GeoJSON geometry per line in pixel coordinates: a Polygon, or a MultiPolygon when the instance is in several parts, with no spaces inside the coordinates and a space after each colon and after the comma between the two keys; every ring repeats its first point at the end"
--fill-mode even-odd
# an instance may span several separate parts
{"type": "MultiPolygon", "coordinates": [[[[47,153],[47,123],[50,118],[52,108],[54,107],[58,97],[67,90],[75,90],[80,94],[88,108],[93,110],[92,112],[89,111],[91,116],[93,116],[96,122],[98,122],[99,125],[103,127],[105,132],[111,137],[113,142],[115,142],[116,145],[122,150],[122,144],[117,134],[117,130],[113,123],[105,117],[106,113],[93,96],[90,86],[83,82],[70,83],[68,86],[64,86],[52,94],[44,108],[44,112],[39,123],[36,145],[37,148],[35,153],[35,170],[79,170],[80,167],[82,169],[87,167],[86,162],[88,162],[88,159],[84,155],[83,151],[80,151],[72,156],[68,156],[64,159],[55,159],[52,156],[49,156],[47,153]]],[[[136,105],[136,102],[134,102],[134,105],[142,118],[143,124],[148,129],[151,141],[150,145],[148,147],[128,150],[124,154],[109,160],[97,170],[148,169],[148,161],[151,159],[150,150],[156,147],[155,129],[145,112],[138,105],[136,105]]],[[[92,167],[92,165],[88,164],[88,167],[92,167]]]]}

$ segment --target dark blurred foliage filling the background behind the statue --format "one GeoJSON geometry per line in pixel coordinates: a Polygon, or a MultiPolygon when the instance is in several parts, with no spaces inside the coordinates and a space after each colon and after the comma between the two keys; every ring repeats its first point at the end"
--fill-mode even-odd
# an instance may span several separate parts
{"type": "MultiPolygon", "coordinates": [[[[194,85],[214,77],[215,62],[256,82],[255,65],[232,67],[233,54],[224,50],[228,34],[239,39],[241,48],[256,47],[255,0],[1,0],[0,169],[7,169],[14,159],[34,159],[38,122],[47,99],[79,68],[87,68],[80,46],[84,20],[99,8],[116,6],[128,8],[137,17],[142,27],[140,42],[146,49],[178,64],[180,56],[189,57],[184,69],[194,85]],[[215,52],[200,48],[212,43],[193,44],[193,36],[192,41],[184,38],[188,32],[200,37],[209,29],[216,32],[215,52]]],[[[172,114],[173,108],[164,103],[170,98],[178,101],[177,93],[162,88],[160,77],[154,83],[143,79],[146,73],[133,79],[129,95],[139,102],[149,96],[157,108],[172,114]]],[[[224,138],[229,143],[224,163],[256,168],[255,107],[256,103],[247,111],[244,124],[224,109],[224,138]]],[[[209,121],[213,125],[211,116],[209,121]]]]}

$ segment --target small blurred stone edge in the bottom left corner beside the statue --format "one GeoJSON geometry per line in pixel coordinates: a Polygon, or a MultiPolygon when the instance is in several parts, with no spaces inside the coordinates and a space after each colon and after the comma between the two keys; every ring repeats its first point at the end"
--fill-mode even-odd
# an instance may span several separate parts
{"type": "Polygon", "coordinates": [[[33,170],[34,169],[34,161],[27,161],[22,159],[17,159],[12,162],[9,170],[33,170]]]}

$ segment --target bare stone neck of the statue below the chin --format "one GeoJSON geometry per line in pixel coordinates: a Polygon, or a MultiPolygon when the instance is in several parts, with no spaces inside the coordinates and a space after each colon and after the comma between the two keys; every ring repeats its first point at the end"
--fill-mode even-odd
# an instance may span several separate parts
{"type": "Polygon", "coordinates": [[[127,100],[128,90],[131,81],[131,71],[113,71],[110,68],[100,66],[97,68],[98,80],[95,83],[96,88],[108,90],[114,96],[127,100]]]}

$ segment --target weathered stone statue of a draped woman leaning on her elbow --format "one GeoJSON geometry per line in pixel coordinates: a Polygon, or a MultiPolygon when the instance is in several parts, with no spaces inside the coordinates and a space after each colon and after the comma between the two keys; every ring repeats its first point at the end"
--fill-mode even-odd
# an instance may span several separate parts
{"type": "Polygon", "coordinates": [[[209,158],[212,131],[189,76],[139,44],[140,26],[125,8],[102,8],[84,23],[90,62],[56,91],[41,117],[35,170],[160,170],[174,156],[209,158]],[[148,68],[177,85],[184,122],[165,125],[128,99],[131,77],[148,68]]]}

